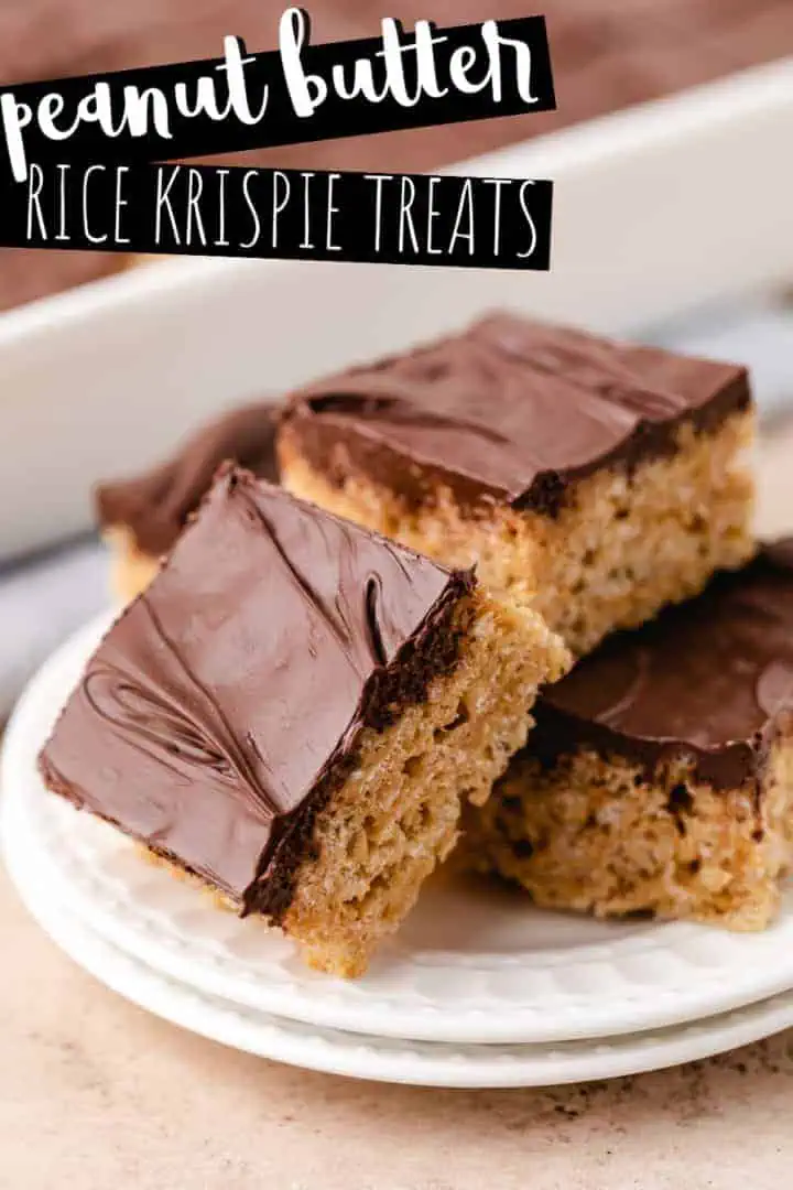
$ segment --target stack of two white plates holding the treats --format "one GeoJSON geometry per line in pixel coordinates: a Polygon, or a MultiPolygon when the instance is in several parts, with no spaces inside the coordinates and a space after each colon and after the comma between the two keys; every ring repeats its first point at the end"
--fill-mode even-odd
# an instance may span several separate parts
{"type": "Polygon", "coordinates": [[[4,752],[6,862],[77,963],[144,1008],[240,1050],[360,1078],[528,1086],[669,1066],[793,1025],[793,891],[776,923],[602,923],[441,877],[365,978],[307,971],[291,944],[216,909],[48,794],[36,756],[106,626],[39,672],[4,752]]]}

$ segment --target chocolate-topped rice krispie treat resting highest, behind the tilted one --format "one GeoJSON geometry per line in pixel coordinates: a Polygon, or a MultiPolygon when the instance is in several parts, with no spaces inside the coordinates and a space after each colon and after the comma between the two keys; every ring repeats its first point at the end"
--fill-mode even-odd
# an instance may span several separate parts
{"type": "Polygon", "coordinates": [[[574,652],[751,553],[745,369],[495,314],[296,393],[297,495],[530,603],[574,652]]]}

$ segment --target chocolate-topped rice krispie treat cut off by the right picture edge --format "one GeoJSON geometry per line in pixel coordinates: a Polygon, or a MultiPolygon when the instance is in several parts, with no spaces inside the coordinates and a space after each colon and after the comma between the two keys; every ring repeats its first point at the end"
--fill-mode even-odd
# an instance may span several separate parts
{"type": "Polygon", "coordinates": [[[535,707],[465,841],[543,906],[768,925],[793,853],[793,539],[535,707]]]}

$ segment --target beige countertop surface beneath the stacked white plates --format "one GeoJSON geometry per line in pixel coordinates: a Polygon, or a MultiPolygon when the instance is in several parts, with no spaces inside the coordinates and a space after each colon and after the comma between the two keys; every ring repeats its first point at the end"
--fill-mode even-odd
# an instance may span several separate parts
{"type": "MultiPolygon", "coordinates": [[[[761,525],[793,527],[793,439],[761,525]]],[[[203,1041],[62,956],[0,875],[0,1190],[788,1190],[793,1031],[609,1083],[438,1091],[203,1041]]]]}

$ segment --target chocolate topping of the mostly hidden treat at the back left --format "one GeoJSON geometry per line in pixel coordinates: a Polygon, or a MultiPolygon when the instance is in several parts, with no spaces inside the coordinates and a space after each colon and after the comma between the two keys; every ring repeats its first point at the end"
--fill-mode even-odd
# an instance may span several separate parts
{"type": "Polygon", "coordinates": [[[262,480],[278,482],[277,414],[273,405],[265,403],[233,409],[203,426],[161,466],[133,480],[101,484],[95,494],[100,524],[128,528],[143,553],[165,553],[221,463],[231,459],[262,480]]]}

